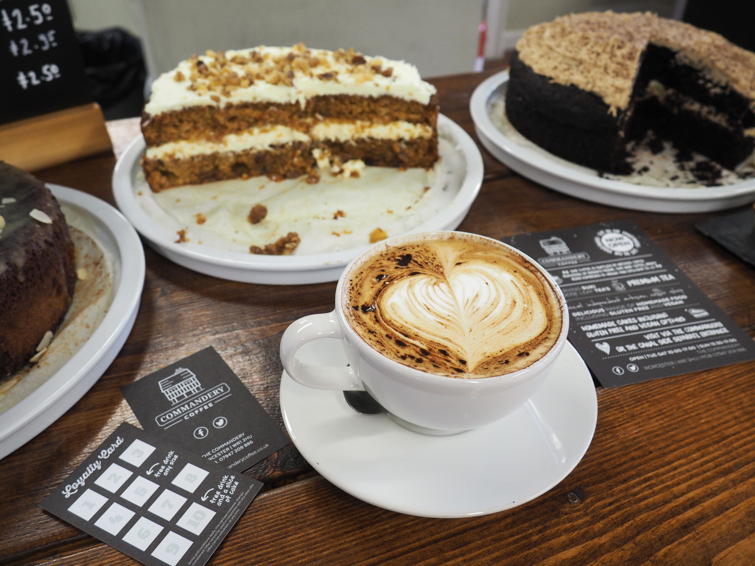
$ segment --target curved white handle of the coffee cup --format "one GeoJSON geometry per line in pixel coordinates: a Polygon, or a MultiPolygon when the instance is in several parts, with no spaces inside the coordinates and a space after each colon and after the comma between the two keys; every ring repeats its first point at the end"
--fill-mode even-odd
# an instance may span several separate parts
{"type": "Polygon", "coordinates": [[[353,368],[307,364],[296,357],[305,343],[319,338],[341,338],[341,325],[335,311],[322,315],[309,315],[291,323],[281,339],[281,361],[291,378],[312,389],[336,391],[364,391],[353,368]]]}

